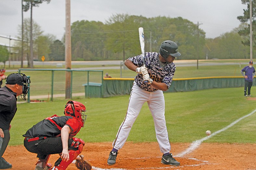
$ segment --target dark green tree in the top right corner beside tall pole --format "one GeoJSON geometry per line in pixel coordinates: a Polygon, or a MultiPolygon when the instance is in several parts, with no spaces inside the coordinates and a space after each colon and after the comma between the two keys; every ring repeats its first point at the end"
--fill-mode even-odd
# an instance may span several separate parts
{"type": "MultiPolygon", "coordinates": [[[[243,37],[242,44],[245,46],[250,46],[250,24],[247,24],[248,21],[250,21],[250,0],[241,0],[242,4],[247,5],[247,8],[244,9],[244,15],[243,16],[238,16],[237,19],[246,25],[245,27],[240,28],[238,30],[238,34],[243,37]]],[[[256,30],[256,1],[251,0],[252,2],[252,30],[256,30]]],[[[256,32],[252,31],[252,39],[253,39],[253,47],[256,46],[256,32]]]]}

